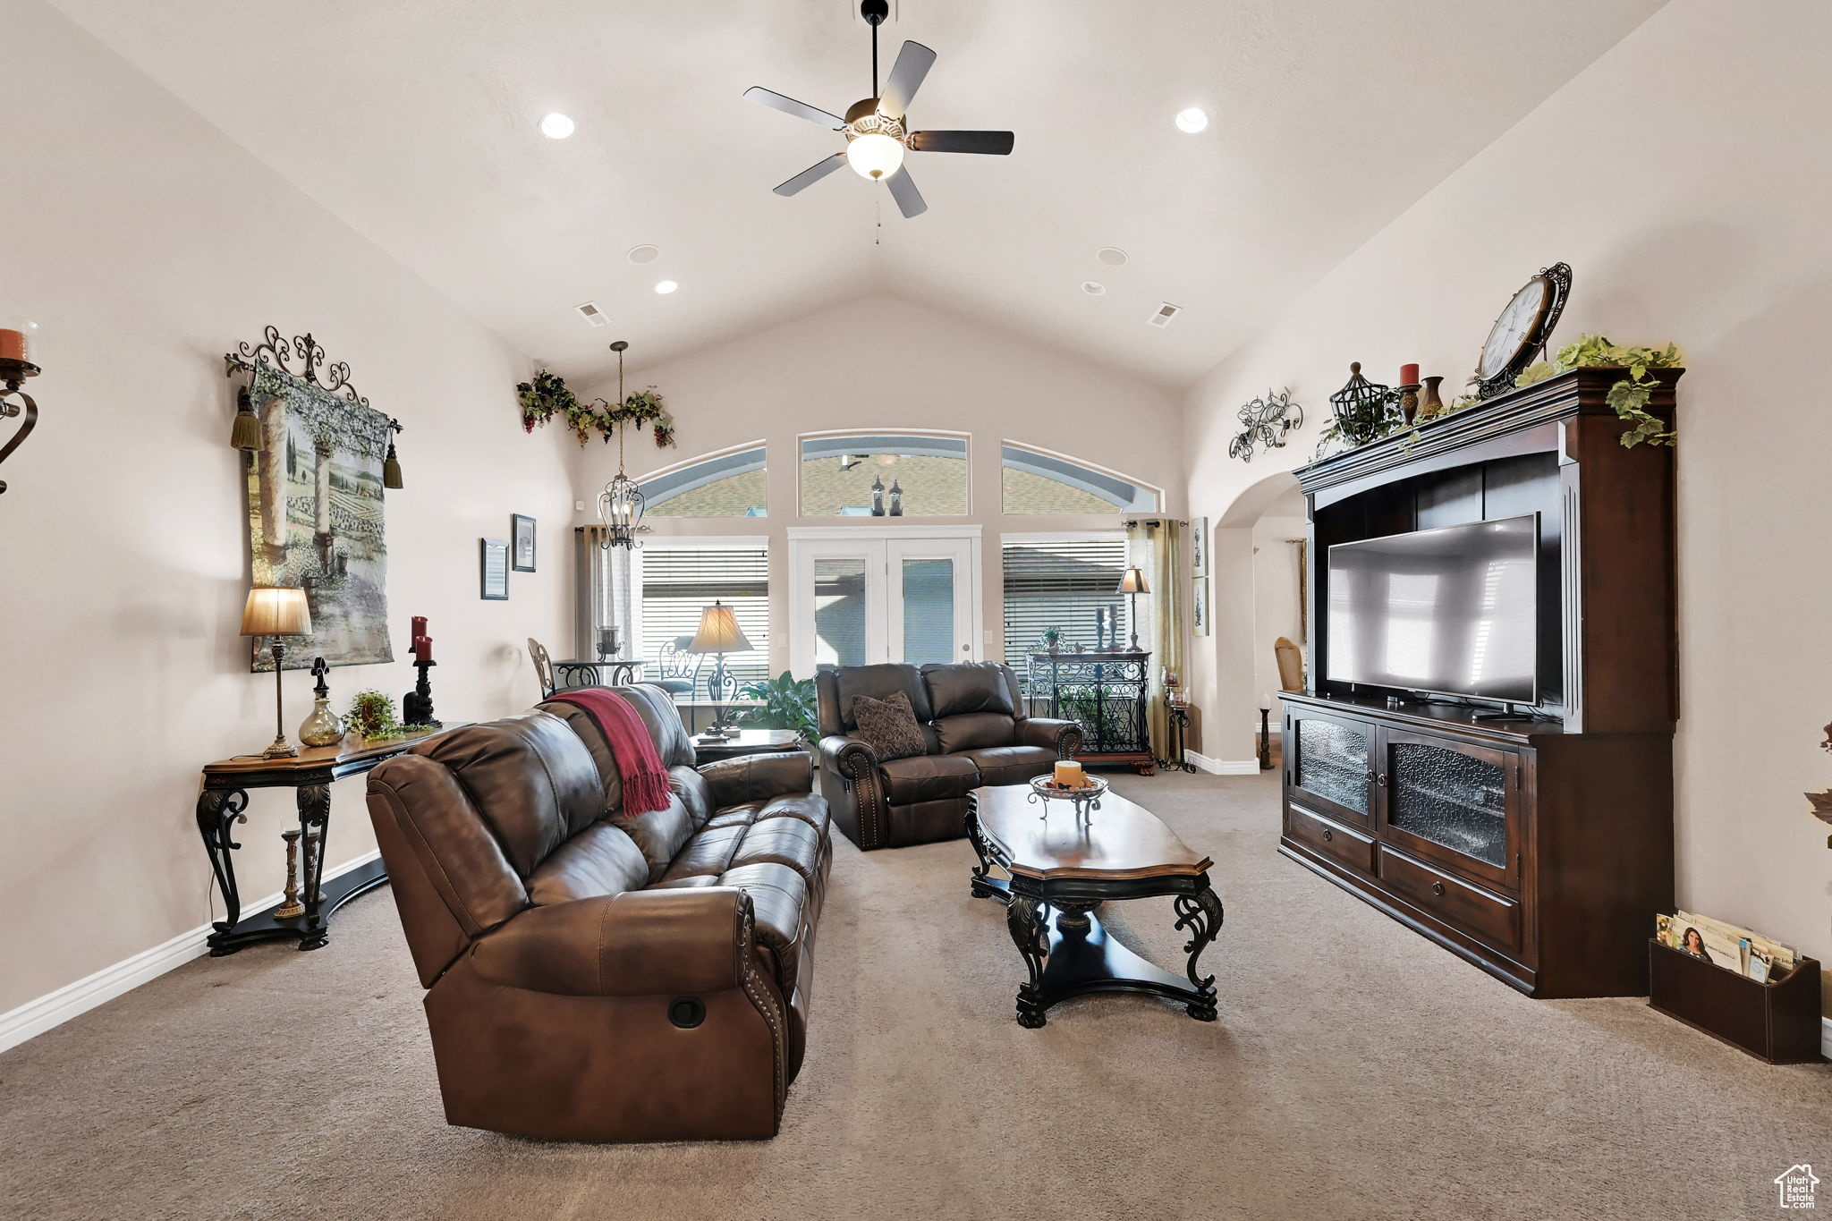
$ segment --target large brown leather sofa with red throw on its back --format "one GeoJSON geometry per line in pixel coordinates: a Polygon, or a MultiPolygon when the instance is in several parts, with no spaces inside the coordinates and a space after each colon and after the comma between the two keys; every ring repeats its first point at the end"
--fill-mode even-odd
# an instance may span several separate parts
{"type": "Polygon", "coordinates": [[[445,1118],[522,1137],[771,1137],[801,1067],[834,851],[808,754],[694,767],[667,694],[619,688],[669,767],[625,816],[564,696],[381,763],[368,809],[445,1118]]]}

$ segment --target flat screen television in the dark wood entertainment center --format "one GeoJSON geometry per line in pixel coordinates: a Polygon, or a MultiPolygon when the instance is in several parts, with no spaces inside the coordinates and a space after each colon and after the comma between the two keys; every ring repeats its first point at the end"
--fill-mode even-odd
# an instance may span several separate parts
{"type": "Polygon", "coordinates": [[[1539,514],[1330,547],[1325,672],[1539,703],[1539,514]]]}

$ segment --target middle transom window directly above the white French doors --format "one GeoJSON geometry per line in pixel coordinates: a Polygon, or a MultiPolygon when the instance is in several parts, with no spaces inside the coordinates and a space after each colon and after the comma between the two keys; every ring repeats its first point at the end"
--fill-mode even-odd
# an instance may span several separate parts
{"type": "Polygon", "coordinates": [[[868,432],[801,439],[802,516],[967,514],[964,434],[868,432]]]}

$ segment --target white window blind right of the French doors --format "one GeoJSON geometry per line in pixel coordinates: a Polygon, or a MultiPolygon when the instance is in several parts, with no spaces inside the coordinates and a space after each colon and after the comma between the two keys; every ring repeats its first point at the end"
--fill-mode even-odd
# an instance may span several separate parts
{"type": "Polygon", "coordinates": [[[1006,663],[1024,674],[1044,628],[1061,628],[1064,650],[1094,648],[1096,610],[1125,622],[1125,595],[1114,593],[1125,567],[1121,535],[1004,544],[1006,663]]]}

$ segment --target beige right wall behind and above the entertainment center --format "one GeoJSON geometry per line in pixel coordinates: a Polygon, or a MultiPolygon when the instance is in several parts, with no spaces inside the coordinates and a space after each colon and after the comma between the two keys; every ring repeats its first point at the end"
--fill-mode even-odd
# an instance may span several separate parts
{"type": "MultiPolygon", "coordinates": [[[[1418,361],[1456,386],[1546,264],[1576,269],[1559,339],[1678,340],[1678,899],[1821,961],[1832,853],[1801,793],[1832,782],[1817,749],[1832,718],[1828,44],[1832,9],[1814,0],[1759,15],[1673,0],[1270,320],[1187,414],[1191,513],[1222,527],[1268,463],[1308,458],[1350,361],[1376,381],[1418,361]],[[1310,423],[1246,467],[1227,458],[1233,412],[1268,384],[1290,384],[1310,423]]],[[[1251,692],[1224,681],[1224,641],[1198,644],[1194,699],[1211,727],[1242,730],[1205,749],[1246,758],[1251,692]]]]}

